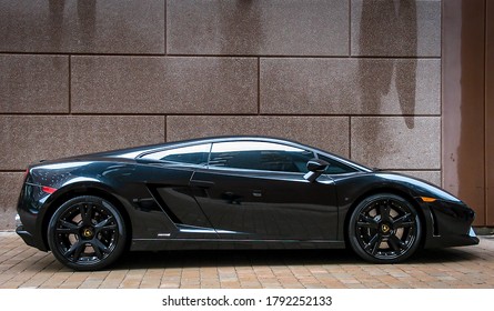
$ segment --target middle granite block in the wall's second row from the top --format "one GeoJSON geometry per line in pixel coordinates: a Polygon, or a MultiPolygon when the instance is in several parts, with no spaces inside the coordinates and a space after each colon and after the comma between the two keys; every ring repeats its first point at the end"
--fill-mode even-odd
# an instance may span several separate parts
{"type": "Polygon", "coordinates": [[[74,113],[256,113],[254,58],[73,57],[74,113]]]}

